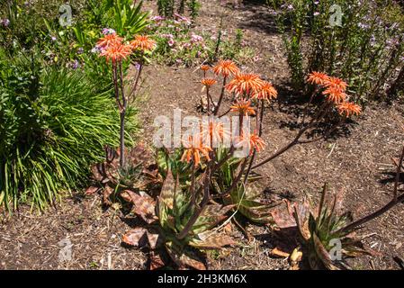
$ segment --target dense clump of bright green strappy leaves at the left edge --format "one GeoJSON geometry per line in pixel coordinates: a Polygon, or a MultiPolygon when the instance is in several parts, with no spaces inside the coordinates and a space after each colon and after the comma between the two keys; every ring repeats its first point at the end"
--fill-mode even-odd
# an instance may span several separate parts
{"type": "Polygon", "coordinates": [[[119,115],[111,88],[85,70],[49,67],[36,74],[29,67],[23,55],[0,65],[0,204],[30,201],[42,209],[85,183],[104,145],[118,146],[119,115]]]}

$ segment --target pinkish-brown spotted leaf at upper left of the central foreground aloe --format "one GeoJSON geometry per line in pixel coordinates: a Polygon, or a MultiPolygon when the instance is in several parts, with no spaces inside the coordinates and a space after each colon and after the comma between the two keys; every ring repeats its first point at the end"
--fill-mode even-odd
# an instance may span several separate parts
{"type": "Polygon", "coordinates": [[[133,204],[132,211],[148,224],[157,220],[156,202],[148,194],[139,195],[130,190],[124,190],[121,192],[121,197],[127,202],[131,202],[133,204]]]}

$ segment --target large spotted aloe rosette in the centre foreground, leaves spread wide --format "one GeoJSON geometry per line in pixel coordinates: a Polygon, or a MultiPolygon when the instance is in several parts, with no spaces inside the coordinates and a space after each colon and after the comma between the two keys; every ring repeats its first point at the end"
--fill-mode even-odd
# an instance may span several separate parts
{"type": "Polygon", "coordinates": [[[135,214],[151,224],[130,230],[124,235],[123,242],[151,249],[164,247],[177,266],[205,269],[201,250],[236,244],[233,239],[214,230],[221,221],[226,220],[226,213],[233,208],[232,205],[206,205],[186,236],[178,237],[197,204],[191,202],[188,190],[181,186],[178,176],[175,181],[170,170],[166,173],[156,202],[147,194],[125,191],[122,196],[133,203],[135,214]]]}

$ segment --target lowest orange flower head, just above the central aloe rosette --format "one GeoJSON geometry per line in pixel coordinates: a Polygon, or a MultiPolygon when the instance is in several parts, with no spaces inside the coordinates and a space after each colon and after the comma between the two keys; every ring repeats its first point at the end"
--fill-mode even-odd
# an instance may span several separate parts
{"type": "Polygon", "coordinates": [[[201,164],[201,154],[202,157],[205,157],[207,160],[211,160],[211,157],[209,157],[209,152],[211,152],[212,149],[203,145],[201,137],[190,136],[187,141],[183,141],[183,145],[185,150],[183,157],[181,157],[181,161],[187,163],[193,162],[193,166],[196,167],[201,164]]]}

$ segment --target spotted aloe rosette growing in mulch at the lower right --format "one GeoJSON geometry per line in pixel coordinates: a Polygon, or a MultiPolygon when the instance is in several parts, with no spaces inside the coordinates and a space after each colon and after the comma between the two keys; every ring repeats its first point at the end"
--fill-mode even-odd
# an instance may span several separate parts
{"type": "MultiPolygon", "coordinates": [[[[350,212],[341,213],[340,206],[341,197],[338,194],[330,197],[327,184],[323,187],[318,209],[312,209],[307,198],[302,203],[288,204],[312,269],[350,269],[346,264],[347,257],[375,255],[374,251],[364,247],[355,233],[341,230],[352,221],[352,217],[350,212]],[[336,253],[341,257],[335,257],[336,253]]],[[[283,216],[273,216],[279,227],[290,226],[285,225],[283,216]]]]}

